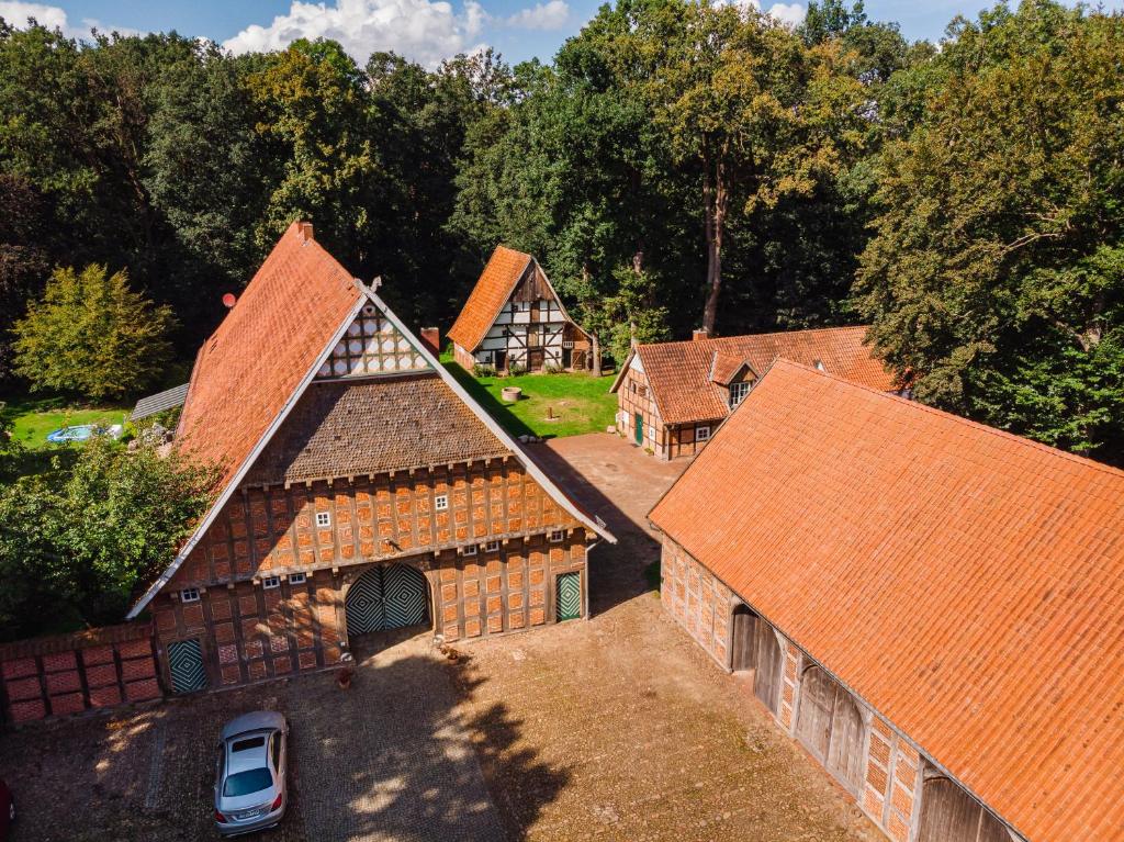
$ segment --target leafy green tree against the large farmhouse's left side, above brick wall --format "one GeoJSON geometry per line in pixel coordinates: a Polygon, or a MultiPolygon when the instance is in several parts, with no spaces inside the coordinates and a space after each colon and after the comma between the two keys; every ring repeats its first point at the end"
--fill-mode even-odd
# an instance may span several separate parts
{"type": "Polygon", "coordinates": [[[0,636],[119,622],[210,503],[216,472],[93,438],[0,490],[0,636]]]}

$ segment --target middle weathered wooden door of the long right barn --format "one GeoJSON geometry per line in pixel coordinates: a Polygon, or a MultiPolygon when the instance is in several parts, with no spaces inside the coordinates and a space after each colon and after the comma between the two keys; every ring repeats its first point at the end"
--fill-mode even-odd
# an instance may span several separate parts
{"type": "Polygon", "coordinates": [[[862,713],[851,694],[813,664],[800,680],[796,735],[852,793],[862,787],[862,713]]]}

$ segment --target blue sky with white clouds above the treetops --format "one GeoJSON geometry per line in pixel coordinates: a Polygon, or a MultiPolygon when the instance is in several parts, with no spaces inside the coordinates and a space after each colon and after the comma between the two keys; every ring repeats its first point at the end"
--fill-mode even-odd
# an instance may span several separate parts
{"type": "MultiPolygon", "coordinates": [[[[375,49],[393,49],[428,67],[456,53],[495,47],[511,63],[550,61],[602,0],[0,0],[0,17],[17,26],[28,17],[72,37],[101,31],[176,30],[210,38],[234,52],[283,48],[300,37],[335,38],[362,65],[375,49]]],[[[807,0],[734,0],[799,22],[807,0]]],[[[872,20],[895,20],[907,38],[937,40],[957,15],[975,18],[980,0],[868,0],[872,20]]],[[[1106,2],[1120,9],[1124,0],[1106,2]]]]}

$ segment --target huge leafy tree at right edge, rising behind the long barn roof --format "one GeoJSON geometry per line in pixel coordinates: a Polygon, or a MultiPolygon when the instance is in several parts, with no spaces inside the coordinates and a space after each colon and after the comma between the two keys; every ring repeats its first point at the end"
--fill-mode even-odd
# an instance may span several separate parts
{"type": "Polygon", "coordinates": [[[1117,463],[1122,54],[1124,18],[1045,0],[958,21],[903,85],[855,284],[919,399],[1117,463]]]}

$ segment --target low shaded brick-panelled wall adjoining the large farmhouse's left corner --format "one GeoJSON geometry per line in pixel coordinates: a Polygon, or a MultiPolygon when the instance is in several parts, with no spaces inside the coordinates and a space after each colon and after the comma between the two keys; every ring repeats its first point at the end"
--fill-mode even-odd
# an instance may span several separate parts
{"type": "Polygon", "coordinates": [[[163,696],[148,623],[0,646],[4,717],[16,724],[163,696]]]}

